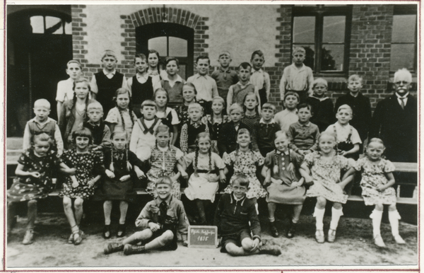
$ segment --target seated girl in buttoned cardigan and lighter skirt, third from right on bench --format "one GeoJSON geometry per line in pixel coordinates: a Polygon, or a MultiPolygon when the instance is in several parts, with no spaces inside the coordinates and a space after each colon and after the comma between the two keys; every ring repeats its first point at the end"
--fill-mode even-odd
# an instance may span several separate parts
{"type": "Polygon", "coordinates": [[[295,236],[296,223],[299,221],[303,202],[305,202],[305,178],[300,176],[299,170],[302,164],[302,156],[288,149],[290,139],[283,131],[276,132],[274,141],[275,150],[266,154],[262,175],[265,177],[264,187],[268,191],[266,202],[268,202],[269,223],[271,235],[278,237],[278,228],[275,225],[274,214],[277,204],[293,205],[293,216],[290,219],[285,236],[295,236]]]}

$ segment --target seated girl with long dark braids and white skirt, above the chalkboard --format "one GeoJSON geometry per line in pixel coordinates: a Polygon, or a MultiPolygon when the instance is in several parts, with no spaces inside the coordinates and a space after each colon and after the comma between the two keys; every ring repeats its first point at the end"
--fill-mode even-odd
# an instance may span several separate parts
{"type": "MultiPolygon", "coordinates": [[[[184,156],[187,166],[192,165],[189,187],[184,190],[186,197],[195,200],[199,224],[207,223],[205,209],[215,201],[218,180],[225,183],[225,164],[217,153],[211,151],[211,136],[202,132],[196,137],[196,151],[184,156]]],[[[212,221],[212,219],[208,219],[212,221]]]]}

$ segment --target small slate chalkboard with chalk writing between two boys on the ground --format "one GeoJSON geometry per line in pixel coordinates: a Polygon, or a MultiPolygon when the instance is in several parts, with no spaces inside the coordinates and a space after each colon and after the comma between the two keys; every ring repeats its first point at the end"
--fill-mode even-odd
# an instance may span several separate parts
{"type": "Polygon", "coordinates": [[[217,245],[216,226],[189,226],[189,248],[216,248],[217,245]]]}

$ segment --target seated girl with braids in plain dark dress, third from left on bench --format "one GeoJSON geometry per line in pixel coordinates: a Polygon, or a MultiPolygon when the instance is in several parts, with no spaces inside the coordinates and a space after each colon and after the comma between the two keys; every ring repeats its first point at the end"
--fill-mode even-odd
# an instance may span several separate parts
{"type": "Polygon", "coordinates": [[[108,239],[112,236],[110,231],[110,214],[112,212],[112,201],[119,201],[119,226],[118,237],[125,235],[125,220],[128,203],[136,202],[136,191],[134,182],[145,178],[142,169],[143,162],[128,149],[128,136],[126,132],[115,131],[112,134],[113,147],[105,152],[105,179],[95,192],[94,200],[104,200],[103,212],[105,214],[105,228],[103,237],[108,239]]]}

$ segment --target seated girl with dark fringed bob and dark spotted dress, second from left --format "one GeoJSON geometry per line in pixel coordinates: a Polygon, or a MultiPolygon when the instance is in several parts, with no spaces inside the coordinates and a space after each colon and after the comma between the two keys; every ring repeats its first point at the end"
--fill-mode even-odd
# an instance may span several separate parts
{"type": "Polygon", "coordinates": [[[59,196],[64,198],[64,211],[71,226],[72,234],[68,243],[79,245],[83,240],[83,231],[79,229],[79,224],[83,216],[84,199],[94,194],[96,182],[100,180],[105,168],[102,153],[89,148],[93,141],[89,129],[83,128],[73,132],[72,141],[75,148],[65,151],[61,158],[70,168],[76,169],[76,180],[65,178],[59,196]],[[75,200],[75,213],[72,210],[72,199],[75,200]]]}

